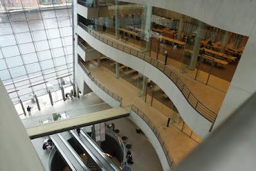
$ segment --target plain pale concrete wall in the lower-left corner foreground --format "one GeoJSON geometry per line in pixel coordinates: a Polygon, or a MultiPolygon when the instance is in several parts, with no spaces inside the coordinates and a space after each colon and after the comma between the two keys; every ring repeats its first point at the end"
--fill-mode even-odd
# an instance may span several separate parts
{"type": "Polygon", "coordinates": [[[1,80],[0,95],[0,170],[44,170],[1,80]]]}

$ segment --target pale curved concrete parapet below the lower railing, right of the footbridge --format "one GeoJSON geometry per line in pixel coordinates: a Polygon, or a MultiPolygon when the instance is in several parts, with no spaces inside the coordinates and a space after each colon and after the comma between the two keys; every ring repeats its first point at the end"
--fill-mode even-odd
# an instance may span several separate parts
{"type": "MultiPolygon", "coordinates": [[[[151,131],[149,125],[147,125],[147,123],[145,123],[144,120],[142,120],[142,118],[138,116],[138,114],[134,113],[134,111],[131,111],[128,118],[133,121],[138,127],[140,127],[140,129],[142,129],[142,132],[147,136],[147,138],[149,138],[149,141],[154,147],[154,150],[156,150],[156,154],[158,154],[158,158],[160,159],[163,170],[171,170],[165,156],[165,152],[163,151],[161,144],[158,141],[158,138],[156,138],[154,132],[151,131]]],[[[170,152],[170,154],[172,154],[172,152],[170,152]]]]}

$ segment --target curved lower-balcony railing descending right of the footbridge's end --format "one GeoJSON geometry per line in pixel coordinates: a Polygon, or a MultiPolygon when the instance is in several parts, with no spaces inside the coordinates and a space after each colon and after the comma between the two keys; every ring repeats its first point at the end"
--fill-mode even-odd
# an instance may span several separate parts
{"type": "Polygon", "coordinates": [[[167,149],[165,145],[165,141],[163,141],[163,138],[161,137],[161,134],[158,131],[158,128],[156,127],[156,125],[154,125],[151,119],[149,119],[149,117],[145,115],[142,111],[140,111],[140,109],[138,109],[138,107],[136,107],[135,105],[131,105],[131,110],[134,111],[134,113],[138,114],[138,116],[140,116],[140,118],[142,118],[142,120],[145,123],[147,123],[147,125],[149,125],[149,127],[151,128],[151,131],[154,132],[154,135],[156,136],[156,138],[158,138],[158,141],[163,149],[163,152],[165,153],[165,156],[167,158],[167,161],[170,167],[173,168],[175,166],[174,160],[170,157],[169,150],[167,149]]]}

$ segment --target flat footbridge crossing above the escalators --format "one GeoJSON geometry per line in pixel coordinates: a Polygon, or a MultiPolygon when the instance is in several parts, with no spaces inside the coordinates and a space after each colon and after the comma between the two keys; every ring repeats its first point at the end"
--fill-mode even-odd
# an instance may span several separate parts
{"type": "Polygon", "coordinates": [[[76,129],[78,127],[85,127],[95,123],[123,118],[125,116],[129,116],[129,113],[130,111],[124,107],[117,107],[96,113],[84,114],[83,116],[68,118],[66,120],[46,123],[37,127],[30,127],[26,129],[26,132],[28,133],[28,136],[30,136],[30,139],[34,139],[50,134],[68,131],[70,129],[76,129]]]}

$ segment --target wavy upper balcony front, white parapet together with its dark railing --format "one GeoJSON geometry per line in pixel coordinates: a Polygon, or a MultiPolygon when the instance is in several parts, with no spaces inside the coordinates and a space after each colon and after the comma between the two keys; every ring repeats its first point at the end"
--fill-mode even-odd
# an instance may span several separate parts
{"type": "Polygon", "coordinates": [[[108,39],[107,37],[102,37],[97,32],[91,30],[82,23],[78,24],[77,32],[80,37],[86,40],[90,46],[98,49],[100,53],[103,53],[107,57],[113,58],[113,60],[125,64],[126,66],[129,66],[140,73],[143,73],[145,76],[148,76],[151,78],[151,80],[156,82],[161,89],[165,91],[169,98],[173,100],[179,113],[181,113],[181,117],[194,132],[202,137],[205,137],[206,134],[208,134],[208,131],[212,129],[212,125],[215,122],[217,114],[208,109],[208,107],[206,107],[203,103],[199,102],[187,85],[185,85],[184,82],[173,71],[171,71],[168,67],[165,67],[164,64],[155,58],[151,58],[140,51],[137,51],[136,49],[123,46],[123,44],[119,44],[118,41],[108,39]],[[105,45],[102,43],[98,44],[98,42],[96,43],[95,38],[105,45]],[[114,57],[113,49],[107,48],[107,46],[117,49],[118,51],[116,53],[118,53],[119,56],[114,57]],[[107,51],[107,49],[109,50],[107,51]],[[109,53],[110,51],[111,53],[109,53]],[[126,53],[126,58],[123,57],[124,55],[121,55],[120,52],[126,53]],[[127,59],[128,56],[130,57],[129,60],[133,60],[133,62],[127,59]],[[144,67],[141,67],[138,64],[142,63],[141,60],[143,61],[142,66],[144,67]],[[147,62],[147,64],[145,64],[145,62],[147,62]],[[159,77],[163,78],[162,81],[159,80],[159,77]],[[170,91],[170,88],[173,88],[172,91],[170,91]],[[181,99],[179,95],[183,96],[183,98],[181,99]]]}

